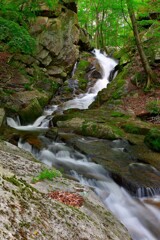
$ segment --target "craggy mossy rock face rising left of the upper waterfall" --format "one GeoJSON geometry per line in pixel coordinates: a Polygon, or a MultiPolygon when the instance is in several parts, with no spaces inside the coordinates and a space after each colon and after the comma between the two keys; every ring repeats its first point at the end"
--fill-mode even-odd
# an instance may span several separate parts
{"type": "Polygon", "coordinates": [[[0,104],[9,115],[18,113],[23,124],[33,122],[42,113],[44,105],[70,76],[80,45],[85,50],[90,47],[87,33],[78,25],[76,1],[60,2],[56,10],[41,5],[36,12],[30,28],[37,39],[33,56],[0,53],[0,104]],[[27,93],[29,101],[27,97],[25,101],[27,93]]]}

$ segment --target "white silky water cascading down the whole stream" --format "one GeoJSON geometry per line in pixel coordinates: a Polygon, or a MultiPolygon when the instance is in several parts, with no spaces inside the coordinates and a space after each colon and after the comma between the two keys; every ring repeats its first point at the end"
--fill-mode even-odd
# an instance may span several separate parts
{"type": "MultiPolygon", "coordinates": [[[[102,79],[99,79],[86,94],[64,103],[63,110],[69,108],[87,109],[94,101],[98,91],[107,86],[110,71],[117,63],[101,54],[98,50],[95,50],[95,55],[102,68],[102,79]]],[[[8,125],[23,131],[46,130],[51,119],[51,113],[57,109],[58,106],[52,106],[50,109],[45,110],[44,115],[32,125],[21,126],[19,121],[11,118],[8,118],[8,125]]],[[[101,165],[93,163],[90,158],[67,146],[66,143],[51,141],[43,134],[40,135],[40,138],[46,146],[40,151],[35,151],[30,144],[23,142],[23,139],[20,139],[19,147],[32,152],[41,162],[49,166],[63,168],[82,184],[91,186],[105,206],[127,227],[134,240],[160,239],[160,209],[148,204],[146,201],[152,201],[155,204],[159,203],[159,196],[155,196],[151,200],[133,198],[109,177],[108,172],[101,165]]],[[[89,139],[81,138],[81,141],[89,141],[89,139]]],[[[114,141],[112,147],[116,152],[122,152],[123,150],[123,146],[117,147],[117,143],[114,141]]]]}

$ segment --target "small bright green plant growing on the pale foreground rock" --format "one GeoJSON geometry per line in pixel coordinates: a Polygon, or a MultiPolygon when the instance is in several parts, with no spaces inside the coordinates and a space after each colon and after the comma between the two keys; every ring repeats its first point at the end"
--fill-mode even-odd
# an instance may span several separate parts
{"type": "Polygon", "coordinates": [[[48,180],[50,180],[50,181],[52,181],[53,180],[53,178],[56,178],[56,177],[61,177],[62,176],[62,174],[61,174],[61,172],[60,171],[58,171],[57,169],[44,169],[44,170],[42,170],[39,174],[38,174],[38,176],[37,177],[34,177],[33,179],[32,179],[32,182],[33,183],[36,183],[36,182],[38,182],[38,181],[42,181],[42,180],[44,180],[44,179],[48,179],[48,180]]]}

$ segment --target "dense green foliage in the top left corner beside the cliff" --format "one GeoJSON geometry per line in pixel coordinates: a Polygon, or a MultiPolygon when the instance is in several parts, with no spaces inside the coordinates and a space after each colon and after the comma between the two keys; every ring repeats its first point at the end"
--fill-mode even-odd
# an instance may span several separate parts
{"type": "Polygon", "coordinates": [[[36,42],[29,33],[30,21],[42,5],[54,9],[57,0],[0,0],[1,51],[32,54],[36,42]]]}

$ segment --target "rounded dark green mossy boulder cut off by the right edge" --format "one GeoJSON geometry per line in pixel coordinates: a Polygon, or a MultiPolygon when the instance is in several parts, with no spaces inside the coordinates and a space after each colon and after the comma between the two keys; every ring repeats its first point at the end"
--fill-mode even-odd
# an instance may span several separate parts
{"type": "Polygon", "coordinates": [[[160,130],[153,128],[145,136],[144,143],[152,150],[160,152],[160,130]]]}

